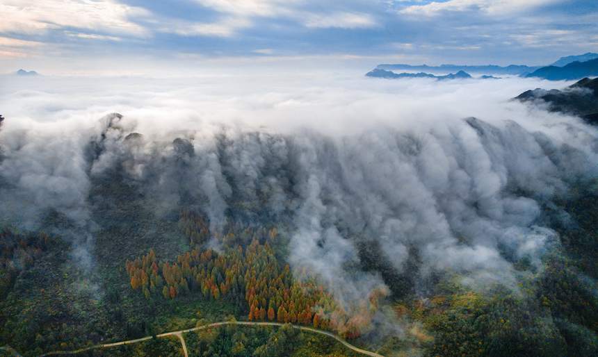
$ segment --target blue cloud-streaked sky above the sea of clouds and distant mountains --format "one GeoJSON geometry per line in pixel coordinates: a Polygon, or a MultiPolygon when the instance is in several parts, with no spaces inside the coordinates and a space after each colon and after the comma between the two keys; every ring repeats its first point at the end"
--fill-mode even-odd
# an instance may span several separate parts
{"type": "Polygon", "coordinates": [[[595,0],[3,0],[0,15],[0,72],[546,65],[598,51],[595,0]]]}

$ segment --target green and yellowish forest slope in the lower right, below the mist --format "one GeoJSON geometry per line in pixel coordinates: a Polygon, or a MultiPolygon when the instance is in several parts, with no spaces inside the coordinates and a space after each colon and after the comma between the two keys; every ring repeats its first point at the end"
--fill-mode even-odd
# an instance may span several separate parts
{"type": "Polygon", "coordinates": [[[563,245],[533,274],[522,272],[516,287],[480,292],[444,276],[430,297],[397,301],[396,315],[421,326],[407,335],[426,356],[598,356],[596,198],[584,191],[562,203],[575,229],[553,223],[563,245]]]}

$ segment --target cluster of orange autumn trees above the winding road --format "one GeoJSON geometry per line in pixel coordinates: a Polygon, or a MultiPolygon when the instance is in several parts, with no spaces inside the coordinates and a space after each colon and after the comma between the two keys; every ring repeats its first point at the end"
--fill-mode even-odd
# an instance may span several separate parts
{"type": "Polygon", "coordinates": [[[344,322],[330,321],[331,316],[341,314],[324,313],[339,310],[332,296],[314,279],[294,279],[289,265],[277,259],[271,245],[277,239],[277,229],[230,225],[229,231],[218,233],[218,239],[250,238],[250,243],[224,244],[225,250],[217,253],[197,244],[210,235],[204,220],[182,213],[179,224],[190,237],[193,249],[173,261],[157,260],[153,249],[145,256],[127,260],[131,288],[142,290],[148,299],[195,294],[204,299],[226,299],[248,311],[250,321],[268,319],[321,329],[344,326],[344,322]]]}

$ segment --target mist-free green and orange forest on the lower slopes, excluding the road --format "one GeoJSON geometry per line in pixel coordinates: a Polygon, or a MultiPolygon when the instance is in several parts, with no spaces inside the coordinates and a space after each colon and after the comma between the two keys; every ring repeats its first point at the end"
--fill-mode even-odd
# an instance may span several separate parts
{"type": "MultiPolygon", "coordinates": [[[[356,338],[361,326],[352,324],[369,323],[367,313],[353,320],[341,314],[316,280],[293,276],[286,239],[274,226],[229,224],[211,232],[191,210],[157,216],[143,199],[126,199],[126,185],[106,185],[104,192],[119,199],[115,207],[95,206],[105,221],[97,219],[104,228],[88,268],[58,234],[0,231],[0,344],[35,356],[229,318],[292,322],[356,338]],[[210,238],[217,249],[208,246],[210,238]]],[[[598,197],[592,192],[572,192],[559,207],[544,208],[562,244],[534,269],[527,258],[512,258],[515,286],[474,289],[446,273],[417,294],[417,260],[395,274],[375,259],[377,247],[362,249],[364,268],[380,271],[390,285],[400,323],[385,340],[373,333],[352,343],[385,356],[597,356],[598,197]],[[567,224],[556,214],[562,210],[567,224]]],[[[370,301],[366,310],[376,307],[370,301]]],[[[191,356],[357,356],[332,338],[288,327],[225,326],[185,339],[191,356]]],[[[82,356],[181,356],[181,344],[152,339],[82,356]]]]}

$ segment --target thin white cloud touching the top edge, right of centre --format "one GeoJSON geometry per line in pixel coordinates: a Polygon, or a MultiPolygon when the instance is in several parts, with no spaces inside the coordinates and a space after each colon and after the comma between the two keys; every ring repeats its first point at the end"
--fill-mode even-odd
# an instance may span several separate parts
{"type": "Polygon", "coordinates": [[[450,0],[407,6],[401,13],[423,16],[436,16],[446,12],[480,11],[490,15],[503,15],[528,10],[556,0],[450,0]]]}

